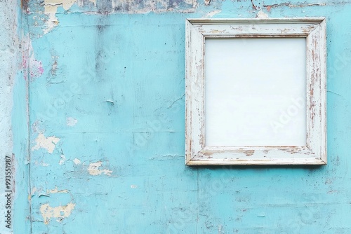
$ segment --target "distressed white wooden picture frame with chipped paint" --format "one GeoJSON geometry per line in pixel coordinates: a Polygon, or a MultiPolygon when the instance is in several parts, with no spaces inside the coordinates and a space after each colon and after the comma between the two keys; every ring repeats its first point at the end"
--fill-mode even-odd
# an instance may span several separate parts
{"type": "Polygon", "coordinates": [[[325,18],[186,20],[186,165],[326,165],[325,18]],[[205,145],[204,43],[212,38],[305,37],[306,145],[205,145]]]}

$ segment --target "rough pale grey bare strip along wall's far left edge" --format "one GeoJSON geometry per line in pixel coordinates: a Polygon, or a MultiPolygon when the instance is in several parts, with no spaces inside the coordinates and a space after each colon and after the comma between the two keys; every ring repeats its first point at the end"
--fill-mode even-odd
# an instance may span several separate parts
{"type": "MultiPolygon", "coordinates": [[[[18,36],[17,36],[17,4],[15,1],[0,1],[0,230],[10,233],[5,228],[7,214],[5,198],[6,156],[12,158],[13,134],[11,130],[11,111],[13,108],[13,83],[17,70],[18,36]]],[[[11,199],[12,200],[12,199],[11,199]]]]}

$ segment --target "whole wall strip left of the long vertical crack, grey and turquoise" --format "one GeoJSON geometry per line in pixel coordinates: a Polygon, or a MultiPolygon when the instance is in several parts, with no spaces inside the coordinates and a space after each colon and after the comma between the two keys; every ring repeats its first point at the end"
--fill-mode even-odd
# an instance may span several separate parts
{"type": "Polygon", "coordinates": [[[16,0],[0,0],[1,234],[29,233],[30,228],[27,81],[21,69],[20,4],[16,0]],[[11,163],[11,167],[8,163],[11,163]],[[11,179],[8,178],[10,175],[11,179]],[[11,198],[8,194],[11,194],[11,198]],[[8,217],[9,214],[11,217],[8,217]]]}

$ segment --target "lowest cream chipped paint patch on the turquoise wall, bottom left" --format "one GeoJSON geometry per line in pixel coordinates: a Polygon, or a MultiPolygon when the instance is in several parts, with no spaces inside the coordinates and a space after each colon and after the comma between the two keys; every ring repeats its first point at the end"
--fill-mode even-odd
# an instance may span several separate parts
{"type": "Polygon", "coordinates": [[[72,202],[67,205],[60,205],[58,207],[51,207],[48,203],[40,206],[41,216],[43,216],[44,223],[48,225],[52,218],[56,221],[61,221],[72,214],[72,210],[76,205],[72,202]]]}

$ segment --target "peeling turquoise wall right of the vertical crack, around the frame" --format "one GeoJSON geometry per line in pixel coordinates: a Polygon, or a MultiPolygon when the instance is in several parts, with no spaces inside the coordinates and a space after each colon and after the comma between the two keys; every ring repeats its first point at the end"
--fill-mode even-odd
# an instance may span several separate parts
{"type": "Polygon", "coordinates": [[[50,3],[23,29],[32,233],[351,233],[350,1],[50,3]],[[185,18],[259,11],[327,18],[329,163],[186,167],[185,18]]]}

